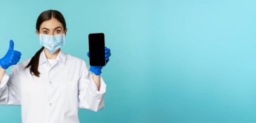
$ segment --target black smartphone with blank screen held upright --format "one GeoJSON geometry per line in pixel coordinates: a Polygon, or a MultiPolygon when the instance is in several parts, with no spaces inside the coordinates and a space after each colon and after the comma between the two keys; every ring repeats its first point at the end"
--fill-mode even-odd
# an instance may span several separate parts
{"type": "Polygon", "coordinates": [[[103,33],[89,34],[90,66],[106,65],[103,33]]]}

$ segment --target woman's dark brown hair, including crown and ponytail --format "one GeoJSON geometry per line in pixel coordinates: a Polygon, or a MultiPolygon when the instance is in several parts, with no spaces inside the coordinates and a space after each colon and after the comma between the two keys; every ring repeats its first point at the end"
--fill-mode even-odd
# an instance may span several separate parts
{"type": "MultiPolygon", "coordinates": [[[[42,22],[47,21],[52,18],[57,19],[63,25],[64,30],[67,30],[65,19],[64,19],[63,15],[61,14],[61,12],[59,12],[57,10],[43,11],[37,18],[36,30],[39,32],[42,22]]],[[[36,77],[39,77],[39,75],[40,75],[40,72],[38,71],[38,65],[39,65],[40,53],[42,52],[42,50],[44,50],[44,46],[42,46],[42,48],[40,48],[40,50],[38,50],[36,52],[36,54],[34,54],[34,56],[30,60],[30,63],[28,63],[28,65],[25,67],[25,68],[30,67],[30,74],[31,75],[34,74],[36,77]]]]}

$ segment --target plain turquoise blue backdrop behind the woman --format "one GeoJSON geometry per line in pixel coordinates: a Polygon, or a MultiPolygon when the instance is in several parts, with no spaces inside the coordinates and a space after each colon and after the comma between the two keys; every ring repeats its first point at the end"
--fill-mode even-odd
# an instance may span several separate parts
{"type": "MultiPolygon", "coordinates": [[[[256,122],[256,1],[1,1],[0,56],[13,39],[21,60],[41,47],[38,15],[63,13],[63,51],[88,64],[88,34],[104,32],[105,108],[80,122],[256,122]]],[[[8,70],[9,71],[9,70],[8,70]]],[[[0,106],[21,122],[20,106],[0,106]]]]}

